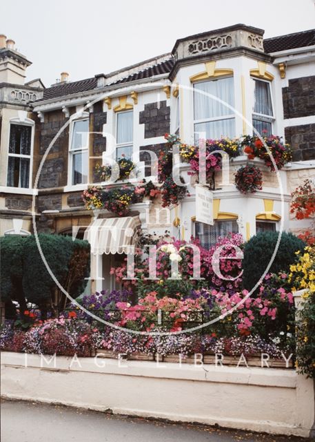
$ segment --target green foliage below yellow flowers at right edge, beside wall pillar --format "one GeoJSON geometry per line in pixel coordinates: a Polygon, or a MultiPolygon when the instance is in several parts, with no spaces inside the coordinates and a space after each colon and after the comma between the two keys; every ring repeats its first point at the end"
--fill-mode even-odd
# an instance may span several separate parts
{"type": "Polygon", "coordinates": [[[315,292],[303,296],[296,323],[296,365],[298,372],[315,378],[315,292]]]}

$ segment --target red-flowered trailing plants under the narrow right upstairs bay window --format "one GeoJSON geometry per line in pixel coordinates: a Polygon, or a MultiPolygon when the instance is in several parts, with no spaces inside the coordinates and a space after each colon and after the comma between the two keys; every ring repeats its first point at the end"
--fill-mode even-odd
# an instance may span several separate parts
{"type": "Polygon", "coordinates": [[[289,144],[283,143],[282,137],[278,137],[278,135],[263,136],[262,140],[260,137],[252,135],[245,135],[241,140],[241,146],[249,160],[254,160],[255,157],[261,158],[265,165],[274,171],[274,164],[265,146],[269,148],[278,169],[282,169],[287,162],[292,160],[292,149],[289,144]]]}

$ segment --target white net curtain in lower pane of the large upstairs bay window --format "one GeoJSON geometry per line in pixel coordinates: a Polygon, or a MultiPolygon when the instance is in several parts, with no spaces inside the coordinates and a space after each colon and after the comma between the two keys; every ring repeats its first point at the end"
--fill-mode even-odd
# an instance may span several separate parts
{"type": "Polygon", "coordinates": [[[194,139],[198,143],[200,138],[216,140],[221,137],[235,137],[235,118],[218,119],[214,122],[198,123],[194,125],[194,139]],[[205,136],[204,136],[205,133],[205,136]]]}

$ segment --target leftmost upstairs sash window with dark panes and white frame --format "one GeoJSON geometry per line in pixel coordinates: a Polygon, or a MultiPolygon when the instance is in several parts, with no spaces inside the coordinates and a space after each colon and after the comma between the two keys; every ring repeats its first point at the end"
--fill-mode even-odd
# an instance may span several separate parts
{"type": "Polygon", "coordinates": [[[7,186],[30,188],[32,126],[10,124],[7,186]]]}

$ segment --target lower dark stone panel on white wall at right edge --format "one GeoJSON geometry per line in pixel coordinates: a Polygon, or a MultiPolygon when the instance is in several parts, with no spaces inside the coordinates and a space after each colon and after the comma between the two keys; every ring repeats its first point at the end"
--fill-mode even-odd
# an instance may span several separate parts
{"type": "Polygon", "coordinates": [[[301,124],[285,128],[285,142],[293,149],[293,160],[315,159],[315,124],[301,124]]]}

